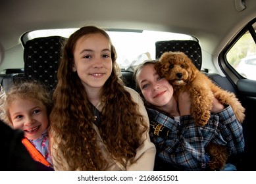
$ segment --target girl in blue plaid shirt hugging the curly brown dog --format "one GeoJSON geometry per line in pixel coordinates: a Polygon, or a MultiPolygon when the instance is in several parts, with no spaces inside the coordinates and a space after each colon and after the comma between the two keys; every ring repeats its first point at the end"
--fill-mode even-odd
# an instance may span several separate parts
{"type": "MultiPolygon", "coordinates": [[[[155,71],[155,62],[146,60],[134,71],[138,91],[147,106],[151,141],[157,148],[155,170],[207,170],[211,158],[205,147],[211,141],[227,145],[230,156],[242,154],[242,126],[232,108],[213,99],[208,124],[195,126],[189,94],[181,94],[176,101],[172,85],[155,71]]],[[[220,170],[236,170],[236,166],[226,164],[220,170]]]]}

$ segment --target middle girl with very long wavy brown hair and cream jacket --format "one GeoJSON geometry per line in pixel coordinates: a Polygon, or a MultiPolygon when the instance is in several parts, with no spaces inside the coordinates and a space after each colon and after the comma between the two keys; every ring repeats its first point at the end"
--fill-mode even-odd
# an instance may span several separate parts
{"type": "Polygon", "coordinates": [[[104,30],[85,26],[66,40],[50,116],[55,170],[153,170],[145,106],[118,72],[104,30]]]}

